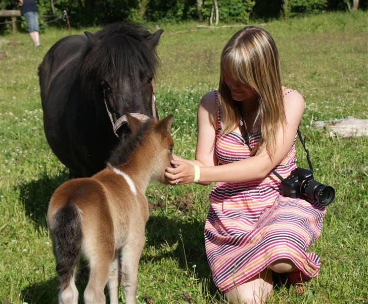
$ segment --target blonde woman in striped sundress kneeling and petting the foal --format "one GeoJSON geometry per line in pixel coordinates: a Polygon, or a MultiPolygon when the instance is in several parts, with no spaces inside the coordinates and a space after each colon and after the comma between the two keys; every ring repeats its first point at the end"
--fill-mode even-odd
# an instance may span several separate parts
{"type": "Polygon", "coordinates": [[[285,178],[296,168],[304,110],[303,97],[281,84],[273,38],[255,26],[240,30],[220,68],[218,91],[198,108],[196,159],[174,156],[166,178],[171,185],[216,182],[205,225],[214,283],[231,303],[259,303],[272,292],[272,271],[289,282],[318,273],[318,256],[306,250],[320,235],[325,208],[281,196],[271,172],[285,178]]]}

